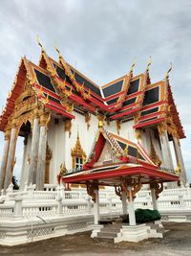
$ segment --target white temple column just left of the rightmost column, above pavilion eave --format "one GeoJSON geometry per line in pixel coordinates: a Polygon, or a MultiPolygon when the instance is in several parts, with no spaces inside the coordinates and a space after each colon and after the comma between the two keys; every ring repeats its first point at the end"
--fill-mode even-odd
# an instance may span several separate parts
{"type": "Polygon", "coordinates": [[[162,134],[159,134],[159,141],[162,153],[162,166],[174,170],[167,130],[165,130],[162,134]]]}

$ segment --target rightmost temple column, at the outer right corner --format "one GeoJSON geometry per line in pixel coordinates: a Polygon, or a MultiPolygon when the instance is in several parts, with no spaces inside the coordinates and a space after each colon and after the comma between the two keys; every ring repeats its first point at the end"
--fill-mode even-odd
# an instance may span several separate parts
{"type": "Polygon", "coordinates": [[[173,144],[177,159],[177,165],[180,166],[180,181],[183,182],[183,184],[185,185],[187,183],[187,176],[180,148],[180,139],[177,136],[173,136],[173,144]]]}

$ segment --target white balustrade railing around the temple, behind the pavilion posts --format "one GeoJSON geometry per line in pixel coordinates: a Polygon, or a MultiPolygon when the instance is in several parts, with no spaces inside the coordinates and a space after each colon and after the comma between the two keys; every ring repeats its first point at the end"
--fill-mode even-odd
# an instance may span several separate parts
{"type": "MultiPolygon", "coordinates": [[[[53,188],[53,187],[52,187],[53,188]]],[[[51,189],[52,189],[51,188],[51,189]]],[[[49,188],[50,189],[50,188],[49,188]]],[[[121,200],[113,191],[99,191],[101,214],[122,213],[121,200]]],[[[191,190],[180,188],[164,190],[158,199],[159,210],[184,210],[191,212],[191,190]]],[[[150,191],[140,191],[135,199],[135,209],[152,209],[150,191]]],[[[93,214],[94,202],[85,190],[64,191],[63,187],[50,191],[9,191],[0,197],[0,220],[35,216],[53,217],[56,215],[82,216],[93,214]]]]}

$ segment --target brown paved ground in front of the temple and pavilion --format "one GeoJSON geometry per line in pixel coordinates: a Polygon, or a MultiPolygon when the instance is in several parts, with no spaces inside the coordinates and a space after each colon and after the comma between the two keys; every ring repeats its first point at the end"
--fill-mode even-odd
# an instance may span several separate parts
{"type": "Polygon", "coordinates": [[[163,239],[150,239],[141,243],[107,244],[97,243],[90,238],[90,232],[54,238],[33,244],[13,247],[0,246],[4,256],[89,256],[89,255],[128,255],[128,256],[191,256],[191,223],[165,223],[163,239]]]}

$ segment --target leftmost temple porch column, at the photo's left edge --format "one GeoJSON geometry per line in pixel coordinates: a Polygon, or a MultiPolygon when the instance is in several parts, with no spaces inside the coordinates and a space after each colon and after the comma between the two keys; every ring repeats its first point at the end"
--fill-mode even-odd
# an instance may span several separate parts
{"type": "Polygon", "coordinates": [[[3,150],[2,162],[1,162],[1,168],[0,168],[0,192],[4,188],[9,148],[10,148],[10,130],[6,130],[4,150],[3,150]]]}

